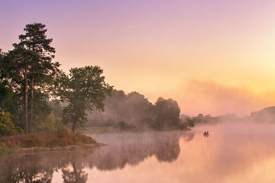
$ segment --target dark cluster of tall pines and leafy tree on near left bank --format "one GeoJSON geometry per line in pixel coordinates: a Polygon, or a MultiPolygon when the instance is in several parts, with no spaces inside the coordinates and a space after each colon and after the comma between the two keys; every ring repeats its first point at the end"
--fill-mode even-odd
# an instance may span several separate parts
{"type": "Polygon", "coordinates": [[[61,71],[45,25],[28,24],[24,31],[12,50],[0,49],[0,136],[55,132],[63,124],[75,132],[87,110],[104,109],[113,86],[104,82],[99,66],[61,71]],[[66,103],[61,114],[54,115],[50,98],[66,103]]]}

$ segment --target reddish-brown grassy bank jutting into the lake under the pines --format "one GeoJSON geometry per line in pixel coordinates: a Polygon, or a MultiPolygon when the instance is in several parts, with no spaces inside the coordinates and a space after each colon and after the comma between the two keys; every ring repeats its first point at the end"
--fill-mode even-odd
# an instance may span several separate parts
{"type": "Polygon", "coordinates": [[[83,134],[28,134],[0,138],[0,155],[11,152],[34,153],[39,151],[73,150],[99,147],[91,136],[83,134]]]}

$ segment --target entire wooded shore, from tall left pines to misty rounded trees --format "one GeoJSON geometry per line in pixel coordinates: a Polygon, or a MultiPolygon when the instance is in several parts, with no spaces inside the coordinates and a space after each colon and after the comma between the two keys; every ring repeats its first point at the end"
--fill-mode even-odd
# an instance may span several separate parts
{"type": "Polygon", "coordinates": [[[45,25],[28,24],[24,32],[12,50],[0,49],[0,136],[54,133],[61,126],[75,133],[88,119],[87,125],[122,129],[186,128],[177,101],[159,97],[152,104],[139,93],[113,90],[100,66],[72,68],[66,74],[54,61],[55,49],[45,25]]]}

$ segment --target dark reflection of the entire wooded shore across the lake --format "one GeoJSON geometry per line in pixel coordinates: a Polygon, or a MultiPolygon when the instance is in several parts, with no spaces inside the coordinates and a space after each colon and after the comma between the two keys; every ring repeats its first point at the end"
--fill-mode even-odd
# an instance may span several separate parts
{"type": "Polygon", "coordinates": [[[109,145],[100,147],[95,152],[61,151],[1,157],[0,182],[52,182],[54,171],[60,170],[64,182],[86,182],[88,174],[83,171],[84,167],[111,171],[123,169],[126,164],[135,166],[151,156],[155,156],[160,162],[173,162],[180,153],[181,137],[184,141],[191,141],[194,134],[186,132],[104,134],[98,141],[109,145]]]}

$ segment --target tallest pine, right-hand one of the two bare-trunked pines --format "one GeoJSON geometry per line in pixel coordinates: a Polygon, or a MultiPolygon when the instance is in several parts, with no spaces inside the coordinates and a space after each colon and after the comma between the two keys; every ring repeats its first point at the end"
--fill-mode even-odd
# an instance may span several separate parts
{"type": "MultiPolygon", "coordinates": [[[[29,65],[25,66],[25,75],[27,75],[29,66],[30,77],[30,121],[28,123],[28,133],[30,133],[32,132],[34,88],[45,88],[45,83],[49,83],[52,80],[60,64],[52,62],[55,49],[50,46],[52,39],[47,38],[45,25],[41,23],[28,24],[25,26],[24,31],[25,34],[19,36],[21,41],[19,44],[14,44],[14,47],[27,50],[30,56],[28,60],[29,65]]],[[[27,77],[25,77],[25,83],[27,83],[27,77]]],[[[28,93],[28,87],[25,87],[25,89],[25,93],[28,93]]],[[[28,106],[28,96],[25,96],[25,100],[28,106]]],[[[28,117],[26,118],[28,120],[28,117]]]]}

